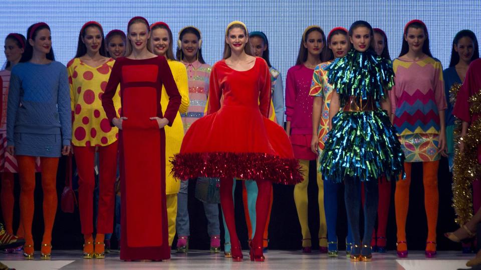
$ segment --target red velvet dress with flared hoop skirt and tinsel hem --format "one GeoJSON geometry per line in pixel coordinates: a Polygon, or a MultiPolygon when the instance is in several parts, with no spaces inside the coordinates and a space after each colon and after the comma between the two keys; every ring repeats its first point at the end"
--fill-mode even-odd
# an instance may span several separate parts
{"type": "Polygon", "coordinates": [[[295,184],[299,163],[284,129],[269,120],[271,75],[257,57],[247,71],[221,60],[212,66],[207,115],[187,130],[174,176],[235,177],[295,184]]]}

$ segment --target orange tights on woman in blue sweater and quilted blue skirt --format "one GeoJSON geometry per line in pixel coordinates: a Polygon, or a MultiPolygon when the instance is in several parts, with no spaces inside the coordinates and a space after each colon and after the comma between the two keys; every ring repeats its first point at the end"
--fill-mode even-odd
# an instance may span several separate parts
{"type": "MultiPolygon", "coordinates": [[[[32,221],[34,219],[35,157],[17,156],[20,172],[20,220],[25,229],[25,244],[33,245],[32,221]]],[[[42,189],[44,192],[44,237],[42,243],[52,241],[52,228],[57,213],[57,167],[59,158],[40,158],[42,189]]]]}

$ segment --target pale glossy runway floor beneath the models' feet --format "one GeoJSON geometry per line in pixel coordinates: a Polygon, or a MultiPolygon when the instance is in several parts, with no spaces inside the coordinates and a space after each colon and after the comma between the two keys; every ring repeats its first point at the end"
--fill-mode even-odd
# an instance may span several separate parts
{"type": "Polygon", "coordinates": [[[53,250],[53,259],[42,261],[40,252],[36,251],[35,260],[24,260],[21,254],[0,254],[0,261],[17,270],[47,269],[382,269],[382,270],[452,270],[481,269],[465,266],[474,254],[461,254],[460,251],[439,251],[437,258],[424,258],[423,251],[412,251],[407,259],[397,259],[394,251],[385,254],[374,253],[371,262],[351,262],[344,251],[337,258],[313,252],[303,254],[300,251],[269,250],[265,262],[249,261],[249,252],[244,250],[243,262],[232,262],[224,258],[223,253],[211,254],[208,251],[192,250],[187,254],[172,253],[170,260],[120,261],[114,252],[105,259],[82,259],[81,250],[53,250]],[[341,256],[342,255],[342,256],[341,256]]]}

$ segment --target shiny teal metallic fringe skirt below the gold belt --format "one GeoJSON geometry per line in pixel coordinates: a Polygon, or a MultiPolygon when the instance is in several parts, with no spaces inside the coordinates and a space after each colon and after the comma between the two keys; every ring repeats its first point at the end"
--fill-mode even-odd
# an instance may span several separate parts
{"type": "Polygon", "coordinates": [[[323,177],[342,182],[388,180],[404,174],[404,154],[386,111],[339,112],[319,160],[323,177]]]}

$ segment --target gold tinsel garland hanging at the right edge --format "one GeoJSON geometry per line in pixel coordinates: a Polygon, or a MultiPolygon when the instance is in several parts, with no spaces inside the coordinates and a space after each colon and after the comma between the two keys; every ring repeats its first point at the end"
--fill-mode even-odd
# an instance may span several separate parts
{"type": "MultiPolygon", "coordinates": [[[[455,103],[460,84],[453,84],[450,91],[451,103],[455,103]]],[[[468,100],[471,115],[481,114],[481,90],[468,100]]],[[[459,142],[461,121],[456,119],[454,141],[459,142]]],[[[452,168],[452,206],[456,212],[456,223],[463,225],[472,217],[472,181],[481,176],[481,165],[477,158],[477,149],[481,140],[481,118],[476,119],[468,127],[463,138],[464,150],[459,151],[459,143],[454,144],[454,165],[452,168]]]]}

